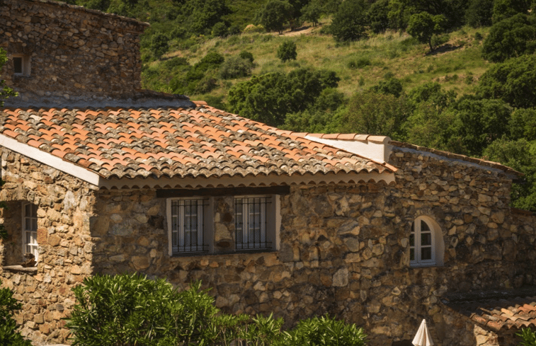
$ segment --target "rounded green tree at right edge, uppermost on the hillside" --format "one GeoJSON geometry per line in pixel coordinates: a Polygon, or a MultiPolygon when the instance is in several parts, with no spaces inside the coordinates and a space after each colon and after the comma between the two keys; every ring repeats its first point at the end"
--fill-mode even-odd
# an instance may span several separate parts
{"type": "Polygon", "coordinates": [[[484,40],[482,56],[492,62],[532,54],[536,50],[536,18],[518,13],[495,23],[484,40]]]}

